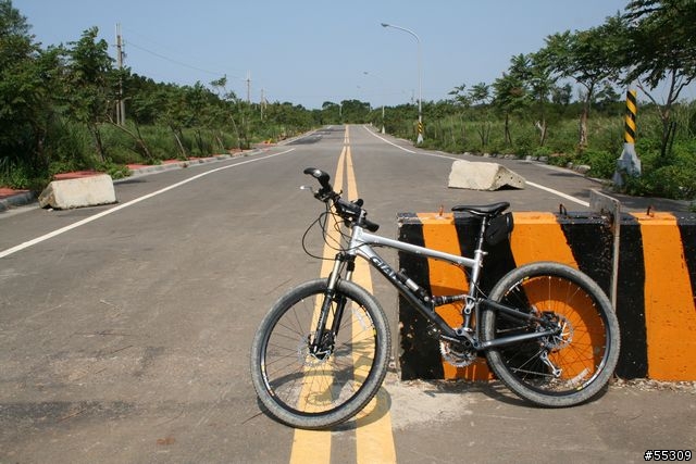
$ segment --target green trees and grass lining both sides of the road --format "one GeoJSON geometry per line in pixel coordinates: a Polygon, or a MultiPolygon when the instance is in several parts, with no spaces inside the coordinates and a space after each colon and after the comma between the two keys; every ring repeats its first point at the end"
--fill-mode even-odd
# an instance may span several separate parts
{"type": "MultiPolygon", "coordinates": [[[[623,89],[633,85],[647,101],[636,142],[644,175],[626,188],[693,199],[696,109],[681,96],[695,76],[696,1],[629,1],[599,26],[550,35],[540,50],[512,57],[490,84],[458,85],[440,101],[423,102],[425,146],[546,155],[610,177],[622,143],[623,89]]],[[[413,104],[383,111],[358,100],[318,110],[250,103],[224,76],[157,83],[117,68],[97,28],[42,47],[12,1],[0,0],[0,185],[40,188],[53,173],[80,168],[119,175],[126,163],[246,149],[324,124],[372,122],[414,140],[415,112],[413,104]]]]}

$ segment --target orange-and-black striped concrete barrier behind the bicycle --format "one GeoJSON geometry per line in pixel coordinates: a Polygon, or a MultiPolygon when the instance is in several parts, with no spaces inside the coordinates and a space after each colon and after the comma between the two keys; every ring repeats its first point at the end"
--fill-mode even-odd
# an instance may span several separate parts
{"type": "MultiPolygon", "coordinates": [[[[464,214],[400,214],[399,239],[450,253],[471,255],[478,220],[464,214]]],[[[550,260],[580,268],[611,294],[613,231],[605,217],[587,213],[514,213],[509,241],[489,247],[481,281],[488,291],[507,272],[550,260]]],[[[696,380],[696,215],[622,214],[616,311],[622,335],[617,374],[623,378],[696,380]]],[[[399,253],[399,266],[434,294],[468,290],[459,268],[399,253]]],[[[459,325],[460,308],[437,312],[459,325]]],[[[403,379],[490,378],[484,359],[456,368],[442,361],[427,326],[399,299],[400,371],[403,379]]]]}

